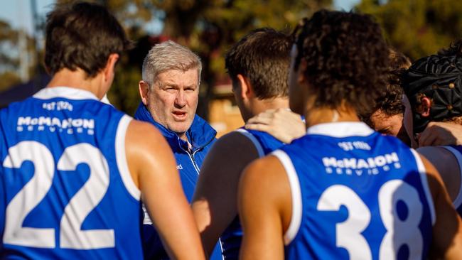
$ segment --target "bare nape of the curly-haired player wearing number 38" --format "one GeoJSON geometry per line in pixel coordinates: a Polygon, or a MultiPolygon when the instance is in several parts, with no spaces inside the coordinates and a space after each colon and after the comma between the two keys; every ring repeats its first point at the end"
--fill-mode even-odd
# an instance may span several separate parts
{"type": "Polygon", "coordinates": [[[326,107],[307,110],[305,114],[306,128],[315,124],[360,121],[354,109],[339,108],[330,109],[326,107]]]}

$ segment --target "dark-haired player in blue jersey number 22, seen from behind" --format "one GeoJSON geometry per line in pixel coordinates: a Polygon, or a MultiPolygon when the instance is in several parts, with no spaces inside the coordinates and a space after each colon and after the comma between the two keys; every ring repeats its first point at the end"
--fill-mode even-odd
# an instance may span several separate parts
{"type": "Polygon", "coordinates": [[[166,141],[99,100],[127,45],[102,6],[48,14],[53,77],[0,111],[2,258],[141,259],[143,200],[172,258],[204,259],[166,141]]]}

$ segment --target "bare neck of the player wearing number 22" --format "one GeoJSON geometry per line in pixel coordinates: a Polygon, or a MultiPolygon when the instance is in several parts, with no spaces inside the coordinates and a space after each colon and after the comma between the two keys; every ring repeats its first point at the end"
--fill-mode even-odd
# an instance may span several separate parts
{"type": "Polygon", "coordinates": [[[101,75],[97,75],[90,79],[86,77],[85,72],[80,68],[77,68],[75,71],[64,68],[53,75],[46,87],[73,87],[80,90],[87,90],[100,99],[104,95],[100,84],[100,77],[101,75]]]}

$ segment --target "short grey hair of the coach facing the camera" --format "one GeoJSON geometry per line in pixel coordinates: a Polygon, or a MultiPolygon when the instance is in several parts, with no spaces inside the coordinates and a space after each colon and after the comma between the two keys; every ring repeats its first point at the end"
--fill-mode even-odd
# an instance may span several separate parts
{"type": "Polygon", "coordinates": [[[143,61],[142,77],[144,82],[152,86],[157,75],[166,70],[181,70],[186,72],[190,69],[198,70],[198,79],[200,82],[202,63],[199,56],[188,48],[172,40],[167,40],[166,42],[154,45],[149,50],[143,61]]]}

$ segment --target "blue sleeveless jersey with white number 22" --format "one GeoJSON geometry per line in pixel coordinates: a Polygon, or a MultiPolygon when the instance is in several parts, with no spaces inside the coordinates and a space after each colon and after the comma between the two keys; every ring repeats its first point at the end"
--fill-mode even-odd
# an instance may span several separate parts
{"type": "Polygon", "coordinates": [[[0,110],[4,259],[141,259],[131,118],[95,95],[45,88],[0,110]]]}

